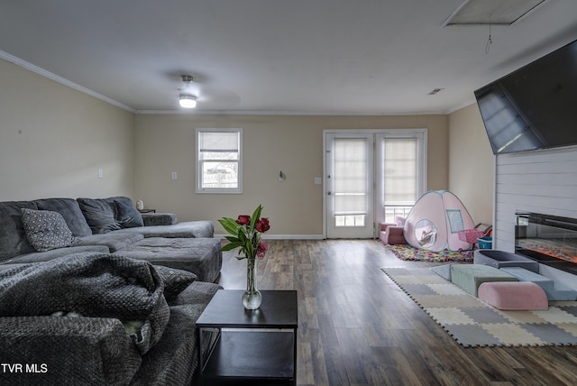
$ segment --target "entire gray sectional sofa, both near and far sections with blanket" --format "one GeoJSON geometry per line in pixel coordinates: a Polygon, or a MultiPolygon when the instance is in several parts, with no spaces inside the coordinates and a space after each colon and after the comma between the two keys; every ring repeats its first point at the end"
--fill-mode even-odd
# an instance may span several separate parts
{"type": "Polygon", "coordinates": [[[0,202],[0,384],[194,383],[213,231],[124,197],[0,202]]]}

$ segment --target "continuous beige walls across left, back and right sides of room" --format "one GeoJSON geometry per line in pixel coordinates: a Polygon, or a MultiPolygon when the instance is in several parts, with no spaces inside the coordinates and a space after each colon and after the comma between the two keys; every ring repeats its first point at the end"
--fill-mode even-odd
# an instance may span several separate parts
{"type": "Polygon", "coordinates": [[[5,60],[0,84],[2,201],[125,195],[215,224],[263,204],[271,235],[317,236],[323,130],[426,128],[426,188],[452,190],[475,222],[491,222],[493,157],[474,105],[451,115],[133,115],[5,60]],[[243,195],[195,193],[196,127],[243,129],[243,195]]]}

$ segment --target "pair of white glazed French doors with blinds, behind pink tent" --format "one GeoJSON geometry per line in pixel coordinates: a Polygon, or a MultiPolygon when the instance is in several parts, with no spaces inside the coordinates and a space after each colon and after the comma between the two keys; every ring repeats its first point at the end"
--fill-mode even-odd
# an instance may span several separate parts
{"type": "Polygon", "coordinates": [[[373,238],[426,187],[426,130],[325,131],[325,234],[373,238]]]}

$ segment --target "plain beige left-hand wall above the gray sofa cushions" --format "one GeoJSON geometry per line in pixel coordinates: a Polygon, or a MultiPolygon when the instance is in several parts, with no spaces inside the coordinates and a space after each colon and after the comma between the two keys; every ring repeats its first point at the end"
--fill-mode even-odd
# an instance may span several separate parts
{"type": "Polygon", "coordinates": [[[0,85],[0,201],[133,195],[132,113],[5,60],[0,85]]]}

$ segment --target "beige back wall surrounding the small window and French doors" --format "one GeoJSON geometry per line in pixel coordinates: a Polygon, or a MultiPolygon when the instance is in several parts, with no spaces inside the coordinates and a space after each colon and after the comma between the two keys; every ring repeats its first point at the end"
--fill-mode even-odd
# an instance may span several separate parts
{"type": "Polygon", "coordinates": [[[137,115],[135,194],[179,220],[212,220],[217,234],[218,218],[262,204],[270,235],[321,235],[323,189],[314,178],[323,175],[323,130],[387,128],[428,129],[428,188],[448,188],[447,115],[137,115]],[[197,127],[243,129],[243,195],[195,194],[197,127]],[[178,179],[170,179],[172,171],[178,179]]]}

